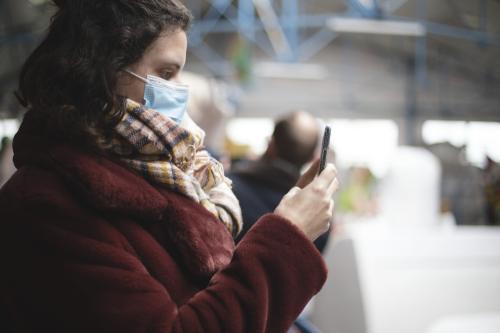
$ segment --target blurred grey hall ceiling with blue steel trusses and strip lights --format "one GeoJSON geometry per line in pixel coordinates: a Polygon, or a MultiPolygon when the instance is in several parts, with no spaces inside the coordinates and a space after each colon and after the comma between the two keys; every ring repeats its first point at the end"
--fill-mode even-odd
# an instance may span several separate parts
{"type": "MultiPolygon", "coordinates": [[[[241,87],[239,116],[302,108],[330,118],[500,121],[500,1],[185,3],[197,17],[187,69],[241,87]],[[250,50],[247,82],[235,79],[231,59],[240,44],[250,50]]],[[[0,11],[0,117],[6,118],[22,111],[12,97],[17,75],[53,6],[0,0],[0,11]]]]}

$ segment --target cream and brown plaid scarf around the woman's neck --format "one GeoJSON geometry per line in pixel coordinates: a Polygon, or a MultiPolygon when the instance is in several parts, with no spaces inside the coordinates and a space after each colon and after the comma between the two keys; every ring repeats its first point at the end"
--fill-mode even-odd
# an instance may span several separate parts
{"type": "Polygon", "coordinates": [[[100,146],[145,179],[200,203],[236,237],[240,206],[224,168],[203,149],[204,136],[187,114],[179,125],[127,100],[123,119],[100,146]]]}

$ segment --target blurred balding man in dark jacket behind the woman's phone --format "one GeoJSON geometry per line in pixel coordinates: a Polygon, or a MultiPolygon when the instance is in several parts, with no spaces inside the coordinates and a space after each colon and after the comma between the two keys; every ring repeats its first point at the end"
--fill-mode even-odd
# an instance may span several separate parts
{"type": "MultiPolygon", "coordinates": [[[[320,126],[304,111],[291,112],[275,123],[266,152],[256,161],[240,161],[228,174],[238,198],[246,232],[264,214],[274,211],[281,198],[297,184],[302,168],[318,154],[320,126]]],[[[322,252],[328,233],[315,242],[322,252]]]]}

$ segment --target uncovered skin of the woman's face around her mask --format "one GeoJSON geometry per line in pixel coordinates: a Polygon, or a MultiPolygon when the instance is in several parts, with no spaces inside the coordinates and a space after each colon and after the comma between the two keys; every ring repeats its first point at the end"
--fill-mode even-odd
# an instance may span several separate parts
{"type": "MultiPolygon", "coordinates": [[[[181,30],[165,32],[146,50],[142,58],[128,70],[142,76],[154,75],[178,81],[186,63],[187,36],[181,30]]],[[[119,73],[117,93],[138,103],[144,99],[144,82],[126,72],[119,73]]]]}

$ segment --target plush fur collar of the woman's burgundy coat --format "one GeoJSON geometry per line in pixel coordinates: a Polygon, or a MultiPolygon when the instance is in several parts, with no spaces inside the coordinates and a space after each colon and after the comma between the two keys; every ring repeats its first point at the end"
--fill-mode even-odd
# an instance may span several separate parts
{"type": "Polygon", "coordinates": [[[25,117],[14,139],[18,168],[30,164],[48,168],[103,215],[138,221],[195,278],[209,278],[230,262],[234,251],[231,235],[201,205],[154,187],[116,161],[44,140],[36,129],[25,117]]]}

